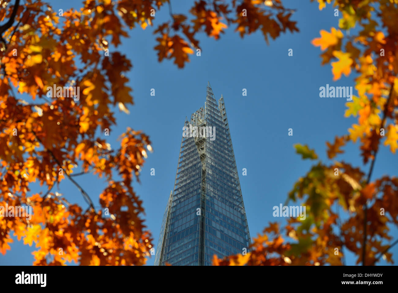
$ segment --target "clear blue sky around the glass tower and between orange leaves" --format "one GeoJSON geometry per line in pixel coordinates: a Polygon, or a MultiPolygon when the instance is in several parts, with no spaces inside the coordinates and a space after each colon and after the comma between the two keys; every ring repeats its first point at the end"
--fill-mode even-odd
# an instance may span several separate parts
{"type": "MultiPolygon", "coordinates": [[[[75,0],[67,4],[50,3],[54,10],[81,6],[81,2],[75,0]]],[[[171,3],[174,13],[186,14],[193,1],[171,0],[171,3]]],[[[111,146],[119,145],[116,140],[126,127],[143,130],[150,136],[154,152],[148,155],[142,168],[141,183],[135,182],[133,186],[143,200],[146,225],[152,231],[154,245],[174,184],[185,116],[190,117],[204,105],[208,81],[217,99],[221,94],[224,96],[252,237],[261,233],[269,221],[285,223],[285,219],[272,216],[272,207],[285,202],[293,184],[312,165],[295,154],[293,145],[308,144],[320,159],[326,160],[325,142],[347,133],[355,123],[355,118],[343,116],[344,98],[319,97],[320,86],[326,84],[354,86],[353,74],[333,82],[331,66],[320,65],[320,49],[310,43],[319,36],[321,29],[330,31],[331,27],[338,26],[333,7],[328,5],[319,11],[318,4],[309,0],[285,0],[283,3],[297,9],[293,20],[298,21],[299,33],[282,34],[269,45],[261,33],[241,39],[233,25],[218,41],[202,34],[201,56],[192,55],[191,62],[183,69],[178,69],[172,61],[158,63],[153,49],[155,36],[152,32],[159,23],[170,19],[167,6],[156,12],[154,27],[145,30],[137,27],[118,48],[133,63],[128,77],[135,105],[129,107],[129,115],[117,110],[117,127],[112,129],[109,140],[111,146]],[[293,57],[288,56],[289,49],[293,49],[293,57]],[[150,96],[151,88],[155,89],[155,96],[150,96]],[[246,97],[242,96],[243,88],[247,89],[246,97]],[[288,136],[289,128],[293,128],[293,136],[288,136]],[[155,168],[155,176],[150,176],[151,168],[155,168]],[[247,176],[242,176],[242,168],[247,169],[247,176]]],[[[363,166],[358,147],[358,144],[349,145],[338,159],[363,166]]],[[[368,169],[369,166],[363,170],[368,169]]],[[[397,164],[396,157],[386,147],[381,147],[372,178],[384,174],[396,176],[397,164]]],[[[92,175],[75,179],[99,205],[98,195],[105,182],[92,175]]],[[[60,190],[53,191],[86,207],[80,192],[67,180],[62,182],[60,190]]],[[[393,239],[398,237],[396,229],[391,234],[393,239]]],[[[32,264],[34,247],[15,241],[11,248],[5,256],[0,254],[0,264],[32,264]]],[[[398,246],[391,252],[397,262],[398,246]]],[[[147,264],[153,262],[154,257],[147,264]]],[[[355,264],[353,256],[347,256],[347,264],[355,264]]]]}

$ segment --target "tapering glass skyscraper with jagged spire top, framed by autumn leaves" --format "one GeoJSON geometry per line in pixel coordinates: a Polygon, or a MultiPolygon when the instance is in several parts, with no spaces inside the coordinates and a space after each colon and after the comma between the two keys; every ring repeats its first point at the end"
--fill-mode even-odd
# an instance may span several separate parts
{"type": "Polygon", "coordinates": [[[249,227],[224,98],[207,84],[205,106],[185,118],[174,189],[163,216],[155,265],[211,265],[248,251],[249,227]]]}

